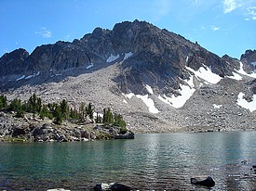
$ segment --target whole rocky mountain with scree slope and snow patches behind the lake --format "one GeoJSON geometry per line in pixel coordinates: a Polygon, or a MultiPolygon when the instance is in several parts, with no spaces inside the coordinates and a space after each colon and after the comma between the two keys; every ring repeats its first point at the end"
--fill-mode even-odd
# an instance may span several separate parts
{"type": "Polygon", "coordinates": [[[38,46],[31,55],[4,55],[0,88],[10,98],[36,93],[111,107],[140,132],[251,129],[255,116],[245,103],[256,100],[254,52],[241,61],[218,57],[181,35],[126,21],[73,43],[38,46]]]}

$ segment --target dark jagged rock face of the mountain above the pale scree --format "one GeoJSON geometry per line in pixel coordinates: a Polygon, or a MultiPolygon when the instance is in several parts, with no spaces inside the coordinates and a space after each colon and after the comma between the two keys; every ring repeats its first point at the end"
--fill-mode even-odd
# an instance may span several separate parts
{"type": "Polygon", "coordinates": [[[49,78],[50,72],[79,70],[91,63],[102,68],[111,55],[124,58],[126,53],[133,55],[123,61],[120,66],[122,72],[115,78],[124,93],[143,94],[143,85],[150,83],[159,87],[156,88],[159,93],[173,94],[180,88],[181,79],[189,77],[186,67],[198,70],[208,66],[221,76],[232,75],[238,67],[231,57],[218,57],[181,35],[134,20],[115,24],[112,31],[96,28],[73,43],[38,46],[31,55],[24,49],[15,50],[1,57],[0,76],[3,77],[2,83],[7,83],[7,80],[15,80],[7,76],[17,79],[20,75],[28,76],[40,71],[45,73],[45,79],[38,82],[42,83],[49,78]]]}

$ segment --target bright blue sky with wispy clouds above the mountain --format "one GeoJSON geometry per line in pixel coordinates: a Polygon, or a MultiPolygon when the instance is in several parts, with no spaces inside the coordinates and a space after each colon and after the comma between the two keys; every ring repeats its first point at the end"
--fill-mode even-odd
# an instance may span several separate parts
{"type": "Polygon", "coordinates": [[[0,57],[134,19],[179,33],[220,57],[256,49],[255,0],[0,0],[0,57]]]}

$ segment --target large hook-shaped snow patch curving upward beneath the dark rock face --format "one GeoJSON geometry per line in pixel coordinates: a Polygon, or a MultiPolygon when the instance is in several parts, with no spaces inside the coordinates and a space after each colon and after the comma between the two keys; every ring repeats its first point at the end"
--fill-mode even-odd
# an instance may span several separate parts
{"type": "Polygon", "coordinates": [[[174,107],[174,108],[182,108],[182,106],[186,103],[186,101],[193,96],[195,92],[194,83],[193,83],[193,77],[190,78],[190,80],[185,81],[189,85],[182,84],[180,94],[181,96],[158,96],[158,98],[167,103],[168,105],[174,107]]]}

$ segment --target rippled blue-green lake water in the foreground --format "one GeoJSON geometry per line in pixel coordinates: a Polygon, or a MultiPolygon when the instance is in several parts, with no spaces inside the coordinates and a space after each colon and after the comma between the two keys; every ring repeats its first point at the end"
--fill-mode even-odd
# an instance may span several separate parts
{"type": "Polygon", "coordinates": [[[0,143],[0,190],[90,190],[122,183],[138,190],[256,190],[256,132],[136,134],[134,140],[0,143]],[[247,160],[242,163],[242,160],[247,160]]]}

